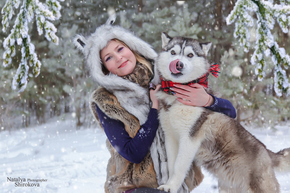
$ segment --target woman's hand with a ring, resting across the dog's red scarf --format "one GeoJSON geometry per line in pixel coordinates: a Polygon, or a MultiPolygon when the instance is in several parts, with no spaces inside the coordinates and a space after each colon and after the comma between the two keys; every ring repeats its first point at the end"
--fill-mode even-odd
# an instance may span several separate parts
{"type": "Polygon", "coordinates": [[[185,105],[196,107],[211,106],[214,103],[213,97],[207,94],[202,85],[194,83],[190,86],[174,84],[176,88],[170,88],[175,92],[177,100],[185,105]],[[183,100],[182,100],[183,99],[183,100]]]}

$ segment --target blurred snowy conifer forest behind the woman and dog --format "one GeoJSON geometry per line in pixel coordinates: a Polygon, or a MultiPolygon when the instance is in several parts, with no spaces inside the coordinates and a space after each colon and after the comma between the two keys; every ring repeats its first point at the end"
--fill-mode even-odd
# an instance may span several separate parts
{"type": "MultiPolygon", "coordinates": [[[[22,2],[22,1],[20,1],[22,2]]],[[[290,99],[287,94],[277,95],[274,90],[275,65],[265,57],[267,67],[262,81],[255,74],[251,64],[254,44],[257,39],[257,15],[249,27],[249,51],[244,52],[239,39],[234,36],[235,22],[227,25],[226,18],[238,0],[110,0],[59,2],[61,17],[53,21],[59,37],[58,45],[39,35],[35,18],[28,23],[30,41],[41,62],[37,77],[28,72],[28,83],[22,92],[12,89],[12,80],[21,60],[21,47],[16,45],[16,54],[11,65],[0,65],[0,127],[12,130],[31,124],[45,123],[49,118],[73,116],[78,128],[91,127],[95,123],[90,114],[88,99],[98,85],[93,83],[85,69],[83,55],[74,47],[71,39],[75,34],[88,35],[115,13],[115,24],[134,31],[139,37],[152,44],[156,52],[161,49],[161,32],[170,36],[183,36],[201,42],[212,42],[208,54],[210,63],[219,63],[221,74],[210,76],[209,82],[223,98],[231,101],[237,111],[237,120],[244,124],[258,124],[269,127],[290,119],[290,99]]],[[[258,2],[258,1],[257,1],[258,2]]],[[[273,1],[280,4],[280,1],[273,1]]],[[[284,2],[284,1],[283,1],[284,2]]],[[[287,1],[288,2],[288,1],[287,1]]],[[[0,0],[2,9],[6,0],[0,0]]],[[[14,9],[13,16],[20,6],[14,9]]],[[[3,16],[3,13],[2,13],[3,16]]],[[[2,19],[2,18],[1,18],[2,19]]],[[[15,18],[9,21],[13,26],[15,18]]],[[[3,26],[0,24],[0,28],[3,26]]],[[[289,26],[288,26],[289,28],[289,26]]],[[[3,41],[10,33],[0,31],[0,63],[3,63],[3,41]]],[[[275,23],[271,30],[273,39],[285,53],[290,53],[289,35],[275,23]]],[[[286,68],[285,68],[286,69],[286,68]]],[[[290,69],[286,69],[289,79],[290,69]]]]}

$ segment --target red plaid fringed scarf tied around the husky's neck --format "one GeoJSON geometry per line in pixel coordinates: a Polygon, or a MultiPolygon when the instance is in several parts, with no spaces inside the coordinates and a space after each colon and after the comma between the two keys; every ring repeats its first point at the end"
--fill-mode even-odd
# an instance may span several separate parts
{"type": "Polygon", "coordinates": [[[204,74],[203,76],[201,76],[200,78],[187,82],[187,83],[177,83],[177,82],[172,82],[172,81],[164,81],[161,78],[161,90],[166,92],[167,94],[172,94],[170,88],[174,87],[174,84],[183,84],[183,85],[192,85],[194,83],[199,83],[200,85],[204,86],[205,88],[207,88],[208,86],[208,77],[209,74],[212,74],[214,77],[218,77],[218,73],[220,68],[220,65],[218,65],[218,63],[215,63],[214,65],[211,65],[211,68],[209,69],[209,72],[204,74]]]}

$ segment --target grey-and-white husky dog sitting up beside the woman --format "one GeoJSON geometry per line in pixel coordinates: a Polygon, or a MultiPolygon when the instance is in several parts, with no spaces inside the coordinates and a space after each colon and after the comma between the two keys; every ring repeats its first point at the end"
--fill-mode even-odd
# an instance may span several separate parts
{"type": "MultiPolygon", "coordinates": [[[[206,55],[210,46],[211,43],[190,38],[172,38],[163,32],[155,73],[166,81],[196,80],[209,71],[206,55]]],[[[213,94],[210,88],[205,89],[213,94]]],[[[280,192],[274,170],[290,171],[290,148],[271,152],[224,114],[184,105],[163,91],[157,97],[169,170],[167,183],[158,189],[176,193],[195,163],[218,179],[220,192],[280,192]]]]}

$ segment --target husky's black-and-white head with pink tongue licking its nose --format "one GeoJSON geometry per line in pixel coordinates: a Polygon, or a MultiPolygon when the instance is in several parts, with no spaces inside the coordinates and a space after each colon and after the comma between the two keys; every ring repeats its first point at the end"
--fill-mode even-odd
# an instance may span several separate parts
{"type": "Polygon", "coordinates": [[[209,71],[206,55],[211,42],[200,43],[195,39],[170,37],[162,32],[162,50],[155,68],[164,79],[186,83],[198,79],[209,71]]]}

